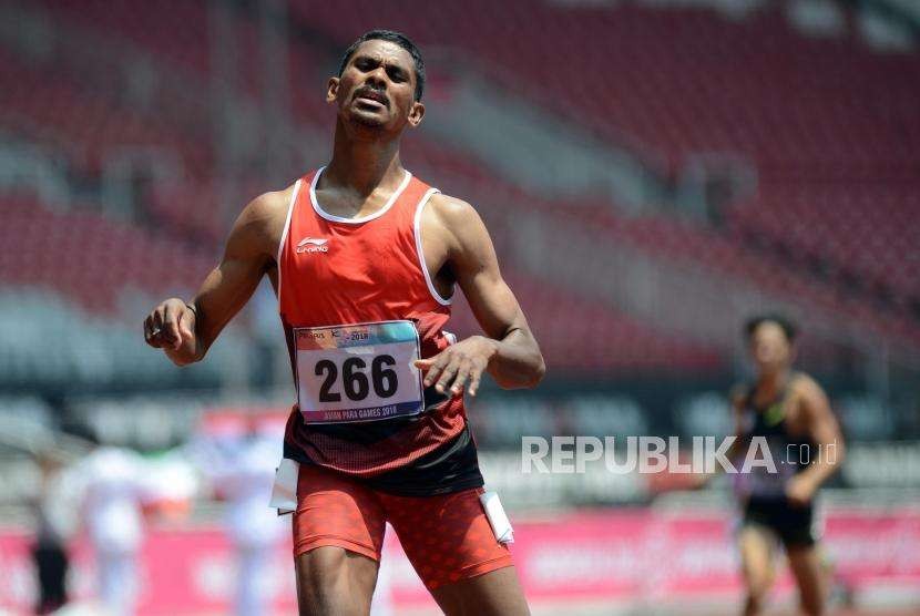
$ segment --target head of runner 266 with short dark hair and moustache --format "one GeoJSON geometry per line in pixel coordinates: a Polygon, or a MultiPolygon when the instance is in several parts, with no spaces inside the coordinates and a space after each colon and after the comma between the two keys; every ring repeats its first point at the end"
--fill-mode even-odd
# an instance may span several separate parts
{"type": "Polygon", "coordinates": [[[425,106],[416,102],[416,64],[408,51],[389,41],[361,43],[341,73],[329,80],[328,103],[339,115],[366,127],[401,131],[418,125],[425,106]]]}

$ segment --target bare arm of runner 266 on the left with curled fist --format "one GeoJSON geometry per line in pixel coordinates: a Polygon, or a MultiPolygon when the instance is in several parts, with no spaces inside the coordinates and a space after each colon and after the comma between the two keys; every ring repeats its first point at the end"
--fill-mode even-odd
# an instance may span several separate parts
{"type": "Polygon", "coordinates": [[[252,297],[274,264],[288,192],[252,201],[233,225],[219,265],[207,275],[195,298],[171,298],[144,320],[144,339],[177,366],[204,358],[207,349],[252,297]]]}

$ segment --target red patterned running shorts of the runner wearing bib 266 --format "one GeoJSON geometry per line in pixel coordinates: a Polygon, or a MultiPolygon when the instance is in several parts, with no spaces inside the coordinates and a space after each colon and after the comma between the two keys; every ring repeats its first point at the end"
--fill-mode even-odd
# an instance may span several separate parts
{"type": "Polygon", "coordinates": [[[511,566],[495,540],[481,487],[437,496],[393,496],[319,466],[300,466],[294,557],[334,545],[380,559],[389,522],[429,589],[511,566]]]}

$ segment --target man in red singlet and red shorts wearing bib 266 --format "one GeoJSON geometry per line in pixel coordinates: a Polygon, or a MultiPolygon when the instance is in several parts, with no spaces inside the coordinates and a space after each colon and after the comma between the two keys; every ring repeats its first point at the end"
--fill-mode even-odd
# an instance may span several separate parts
{"type": "Polygon", "coordinates": [[[285,456],[300,464],[301,614],[368,613],[386,522],[446,613],[528,613],[479,501],[463,392],[474,396],[484,371],[533,387],[545,368],[476,211],[400,164],[423,85],[406,37],[358,39],[328,82],[329,164],[249,203],[196,297],[168,299],[144,322],[176,365],[198,361],[270,279],[298,391],[285,456]],[[485,336],[457,342],[442,329],[454,284],[485,336]]]}

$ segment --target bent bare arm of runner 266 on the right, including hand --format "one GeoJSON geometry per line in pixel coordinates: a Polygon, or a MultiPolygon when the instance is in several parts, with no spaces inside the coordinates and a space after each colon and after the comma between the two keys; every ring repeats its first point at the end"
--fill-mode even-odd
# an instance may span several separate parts
{"type": "Polygon", "coordinates": [[[439,239],[447,245],[447,265],[463,290],[485,336],[473,336],[438,356],[420,361],[425,383],[457,396],[469,380],[476,396],[488,371],[500,387],[534,387],[545,373],[543,356],[514,294],[502,279],[492,239],[479,214],[459,199],[436,195],[429,207],[439,239]]]}

